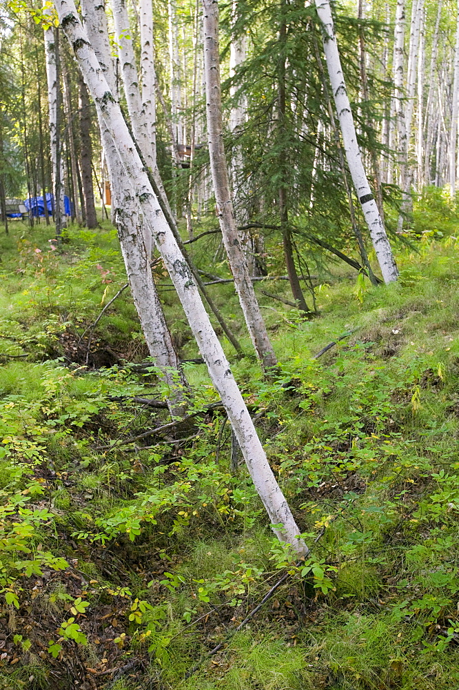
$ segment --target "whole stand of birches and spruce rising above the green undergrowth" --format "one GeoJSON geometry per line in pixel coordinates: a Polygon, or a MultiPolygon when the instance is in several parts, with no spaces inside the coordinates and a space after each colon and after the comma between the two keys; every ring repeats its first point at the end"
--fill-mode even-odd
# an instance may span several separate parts
{"type": "MultiPolygon", "coordinates": [[[[180,417],[192,391],[152,273],[163,264],[269,522],[304,558],[210,315],[225,346],[245,353],[184,243],[214,219],[268,378],[278,362],[256,279],[285,272],[304,319],[317,312],[312,274],[324,257],[375,286],[396,282],[394,248],[411,233],[414,197],[432,185],[456,195],[459,6],[56,0],[37,11],[12,0],[1,62],[6,230],[6,201],[21,192],[30,205],[52,195],[43,221],[54,219],[58,245],[69,223],[97,227],[101,203],[180,417]]],[[[39,221],[30,215],[30,226],[39,221]]]]}

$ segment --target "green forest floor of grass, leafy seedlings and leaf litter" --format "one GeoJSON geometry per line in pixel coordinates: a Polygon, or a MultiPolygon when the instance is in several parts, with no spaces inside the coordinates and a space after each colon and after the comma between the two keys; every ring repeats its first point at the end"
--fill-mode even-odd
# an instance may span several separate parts
{"type": "MultiPolygon", "coordinates": [[[[421,208],[415,228],[400,282],[361,286],[333,264],[310,320],[257,285],[272,381],[234,288],[212,287],[312,546],[299,565],[231,462],[203,365],[184,364],[193,416],[157,431],[170,417],[145,399],[166,391],[130,366],[147,351],[129,290],[90,328],[125,283],[114,230],[71,229],[61,248],[43,224],[0,237],[0,689],[459,688],[459,217],[421,208]]],[[[203,243],[196,261],[224,275],[218,240],[203,243]]],[[[288,299],[286,282],[266,289],[288,299]]]]}

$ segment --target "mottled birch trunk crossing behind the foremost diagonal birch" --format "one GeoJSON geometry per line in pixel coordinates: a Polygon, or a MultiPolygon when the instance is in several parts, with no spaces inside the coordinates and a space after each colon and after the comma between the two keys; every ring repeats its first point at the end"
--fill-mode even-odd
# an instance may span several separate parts
{"type": "MultiPolygon", "coordinates": [[[[91,43],[96,46],[100,67],[110,83],[111,92],[116,93],[116,77],[110,55],[103,4],[83,0],[82,7],[91,43]]],[[[103,123],[100,108],[97,115],[110,175],[112,208],[114,208],[115,223],[132,298],[139,314],[148,351],[161,372],[160,378],[169,388],[167,405],[172,415],[181,415],[185,410],[187,382],[181,372],[179,358],[174,349],[152,277],[150,246],[148,242],[145,242],[145,235],[150,238],[151,233],[144,232],[143,219],[139,213],[132,186],[119,161],[112,136],[103,123]]]]}

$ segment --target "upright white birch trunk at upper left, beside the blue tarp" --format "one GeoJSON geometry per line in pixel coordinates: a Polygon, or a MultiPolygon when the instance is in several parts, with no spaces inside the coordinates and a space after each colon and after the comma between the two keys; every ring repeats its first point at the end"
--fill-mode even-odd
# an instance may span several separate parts
{"type": "MultiPolygon", "coordinates": [[[[43,14],[50,17],[50,9],[44,7],[43,14]]],[[[52,26],[45,28],[46,79],[48,82],[48,109],[50,114],[50,150],[52,163],[52,188],[54,193],[54,215],[56,235],[65,228],[65,208],[63,194],[63,166],[61,165],[61,146],[58,131],[58,73],[57,73],[57,33],[52,26]],[[57,211],[57,213],[56,213],[57,211]]]]}

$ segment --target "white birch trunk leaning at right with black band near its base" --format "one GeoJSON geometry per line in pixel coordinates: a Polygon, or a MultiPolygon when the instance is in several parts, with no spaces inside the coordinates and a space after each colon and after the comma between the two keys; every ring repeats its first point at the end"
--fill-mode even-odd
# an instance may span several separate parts
{"type": "Polygon", "coordinates": [[[316,0],[316,8],[320,21],[323,23],[323,47],[329,78],[332,83],[332,91],[335,100],[336,111],[340,121],[343,144],[346,153],[347,165],[351,173],[356,193],[362,206],[363,215],[367,221],[371,242],[373,243],[376,257],[380,265],[385,283],[393,282],[398,278],[398,270],[394,255],[392,254],[389,239],[387,239],[383,221],[379,215],[378,206],[369,188],[367,175],[363,169],[362,157],[358,148],[356,128],[352,117],[351,104],[347,96],[346,85],[341,68],[338,45],[334,34],[332,10],[329,0],[316,0]]]}

